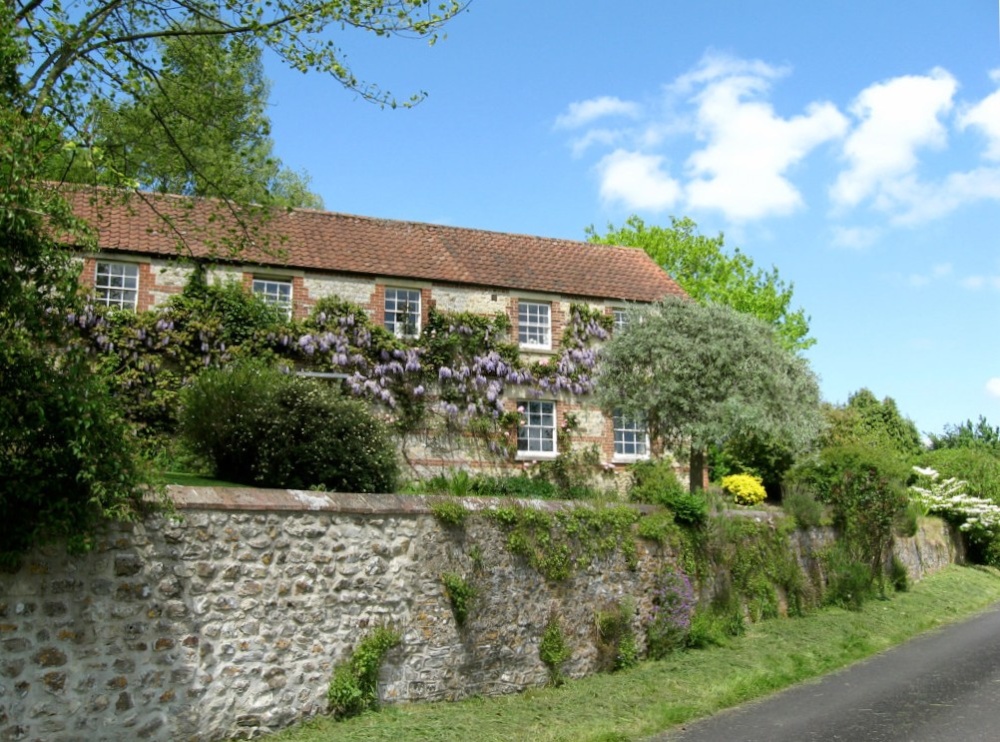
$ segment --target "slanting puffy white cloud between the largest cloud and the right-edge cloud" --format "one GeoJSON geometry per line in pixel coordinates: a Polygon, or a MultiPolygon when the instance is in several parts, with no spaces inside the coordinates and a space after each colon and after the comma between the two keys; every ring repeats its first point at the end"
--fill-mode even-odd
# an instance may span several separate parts
{"type": "Polygon", "coordinates": [[[955,79],[937,68],[863,90],[851,106],[861,123],[844,143],[848,166],[831,189],[833,200],[855,206],[874,197],[884,209],[907,203],[917,150],[947,142],[940,117],[951,110],[957,88],[955,79]]]}

